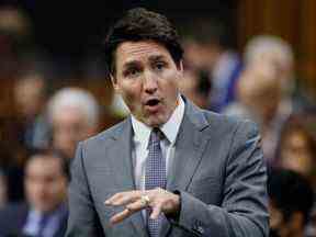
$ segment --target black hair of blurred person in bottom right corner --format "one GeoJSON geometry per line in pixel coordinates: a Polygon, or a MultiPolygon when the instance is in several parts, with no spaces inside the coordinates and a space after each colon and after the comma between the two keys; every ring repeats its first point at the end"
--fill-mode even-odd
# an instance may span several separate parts
{"type": "Polygon", "coordinates": [[[314,204],[314,192],[308,180],[302,174],[286,169],[273,168],[268,177],[268,193],[285,222],[294,212],[303,214],[307,223],[314,204]]]}

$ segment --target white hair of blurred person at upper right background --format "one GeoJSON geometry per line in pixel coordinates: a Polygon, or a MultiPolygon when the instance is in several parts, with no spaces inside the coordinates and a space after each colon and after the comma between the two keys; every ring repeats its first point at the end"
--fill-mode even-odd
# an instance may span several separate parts
{"type": "Polygon", "coordinates": [[[258,35],[252,37],[245,48],[245,61],[246,64],[258,61],[262,55],[269,53],[275,55],[282,65],[292,66],[294,63],[291,45],[274,35],[258,35]]]}

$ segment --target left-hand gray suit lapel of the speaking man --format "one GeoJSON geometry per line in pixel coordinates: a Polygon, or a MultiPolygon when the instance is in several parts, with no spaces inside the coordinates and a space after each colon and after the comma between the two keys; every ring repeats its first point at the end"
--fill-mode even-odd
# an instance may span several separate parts
{"type": "MultiPolygon", "coordinates": [[[[121,129],[115,131],[113,134],[113,149],[111,153],[111,167],[115,173],[116,187],[120,187],[120,191],[131,191],[136,190],[135,178],[134,178],[134,167],[132,159],[132,124],[131,119],[127,119],[123,124],[121,129]]],[[[106,153],[106,151],[105,151],[106,153]]],[[[109,151],[106,153],[109,156],[109,151]]],[[[134,229],[137,232],[137,236],[147,236],[145,223],[142,213],[135,213],[129,217],[134,229]]]]}

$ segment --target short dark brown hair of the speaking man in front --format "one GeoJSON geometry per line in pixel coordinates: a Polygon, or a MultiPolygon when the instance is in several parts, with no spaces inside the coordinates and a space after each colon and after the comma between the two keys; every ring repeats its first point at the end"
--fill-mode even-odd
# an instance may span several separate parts
{"type": "Polygon", "coordinates": [[[154,41],[163,45],[177,65],[183,57],[176,27],[165,15],[144,8],[131,9],[109,31],[104,56],[110,74],[115,72],[115,50],[123,42],[154,41]]]}

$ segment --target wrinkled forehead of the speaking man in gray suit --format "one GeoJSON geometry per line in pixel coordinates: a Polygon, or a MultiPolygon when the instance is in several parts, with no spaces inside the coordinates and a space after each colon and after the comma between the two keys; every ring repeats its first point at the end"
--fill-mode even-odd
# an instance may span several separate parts
{"type": "Polygon", "coordinates": [[[135,60],[148,60],[155,57],[171,59],[168,49],[153,41],[124,42],[116,49],[117,67],[135,60]]]}

